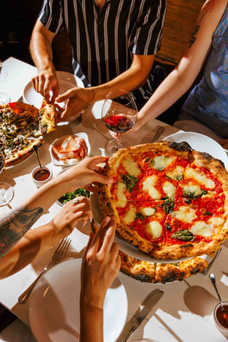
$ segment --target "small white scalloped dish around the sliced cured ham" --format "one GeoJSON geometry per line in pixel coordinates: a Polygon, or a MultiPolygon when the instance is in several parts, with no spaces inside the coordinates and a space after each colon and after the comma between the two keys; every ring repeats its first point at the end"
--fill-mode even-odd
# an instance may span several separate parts
{"type": "Polygon", "coordinates": [[[91,147],[90,147],[90,143],[89,143],[89,138],[88,135],[84,132],[81,133],[76,133],[76,134],[68,134],[68,135],[63,135],[60,138],[56,139],[55,141],[53,141],[53,143],[50,146],[50,154],[51,154],[51,158],[52,158],[52,164],[56,165],[56,166],[73,166],[76,165],[78,163],[80,163],[82,160],[78,161],[77,163],[74,164],[67,164],[67,163],[63,163],[61,160],[59,160],[56,156],[56,154],[52,151],[52,146],[61,144],[65,138],[67,138],[68,136],[72,136],[72,137],[76,137],[78,136],[79,138],[83,138],[86,146],[87,146],[87,156],[85,158],[83,158],[82,160],[86,159],[89,157],[90,153],[91,153],[91,147]]]}

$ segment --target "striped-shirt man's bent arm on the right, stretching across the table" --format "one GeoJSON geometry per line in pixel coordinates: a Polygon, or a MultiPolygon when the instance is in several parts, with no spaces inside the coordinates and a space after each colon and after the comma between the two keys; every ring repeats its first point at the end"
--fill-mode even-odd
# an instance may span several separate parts
{"type": "Polygon", "coordinates": [[[91,88],[72,88],[58,96],[56,102],[68,100],[61,118],[65,120],[72,113],[77,113],[88,104],[103,100],[114,89],[132,91],[145,84],[153,65],[155,55],[135,55],[131,67],[113,80],[91,88]]]}

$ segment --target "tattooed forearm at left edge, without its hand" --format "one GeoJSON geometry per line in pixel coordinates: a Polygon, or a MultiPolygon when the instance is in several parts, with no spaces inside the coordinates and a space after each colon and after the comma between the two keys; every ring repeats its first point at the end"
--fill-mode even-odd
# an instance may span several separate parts
{"type": "Polygon", "coordinates": [[[56,177],[39,188],[20,206],[0,216],[0,259],[68,188],[61,177],[56,177]]]}

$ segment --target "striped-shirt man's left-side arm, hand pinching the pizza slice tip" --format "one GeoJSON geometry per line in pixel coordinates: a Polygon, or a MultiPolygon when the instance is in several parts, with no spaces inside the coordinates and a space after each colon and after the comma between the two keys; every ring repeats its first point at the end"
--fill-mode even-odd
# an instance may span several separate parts
{"type": "Polygon", "coordinates": [[[39,19],[33,28],[30,41],[30,52],[38,69],[38,75],[32,78],[32,85],[49,103],[49,92],[53,92],[52,101],[59,94],[59,84],[52,63],[52,40],[55,34],[49,31],[39,19]]]}

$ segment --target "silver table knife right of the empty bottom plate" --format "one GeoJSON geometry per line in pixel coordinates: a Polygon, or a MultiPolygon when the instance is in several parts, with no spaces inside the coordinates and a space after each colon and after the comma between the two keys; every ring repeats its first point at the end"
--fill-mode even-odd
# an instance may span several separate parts
{"type": "Polygon", "coordinates": [[[158,301],[162,298],[164,292],[159,291],[152,295],[152,297],[148,300],[146,305],[142,308],[142,310],[139,312],[138,316],[136,317],[133,325],[131,326],[130,330],[124,338],[121,340],[121,342],[126,342],[128,339],[132,336],[132,334],[136,331],[136,329],[140,326],[140,324],[144,321],[146,316],[150,313],[152,308],[158,303],[158,301]]]}

